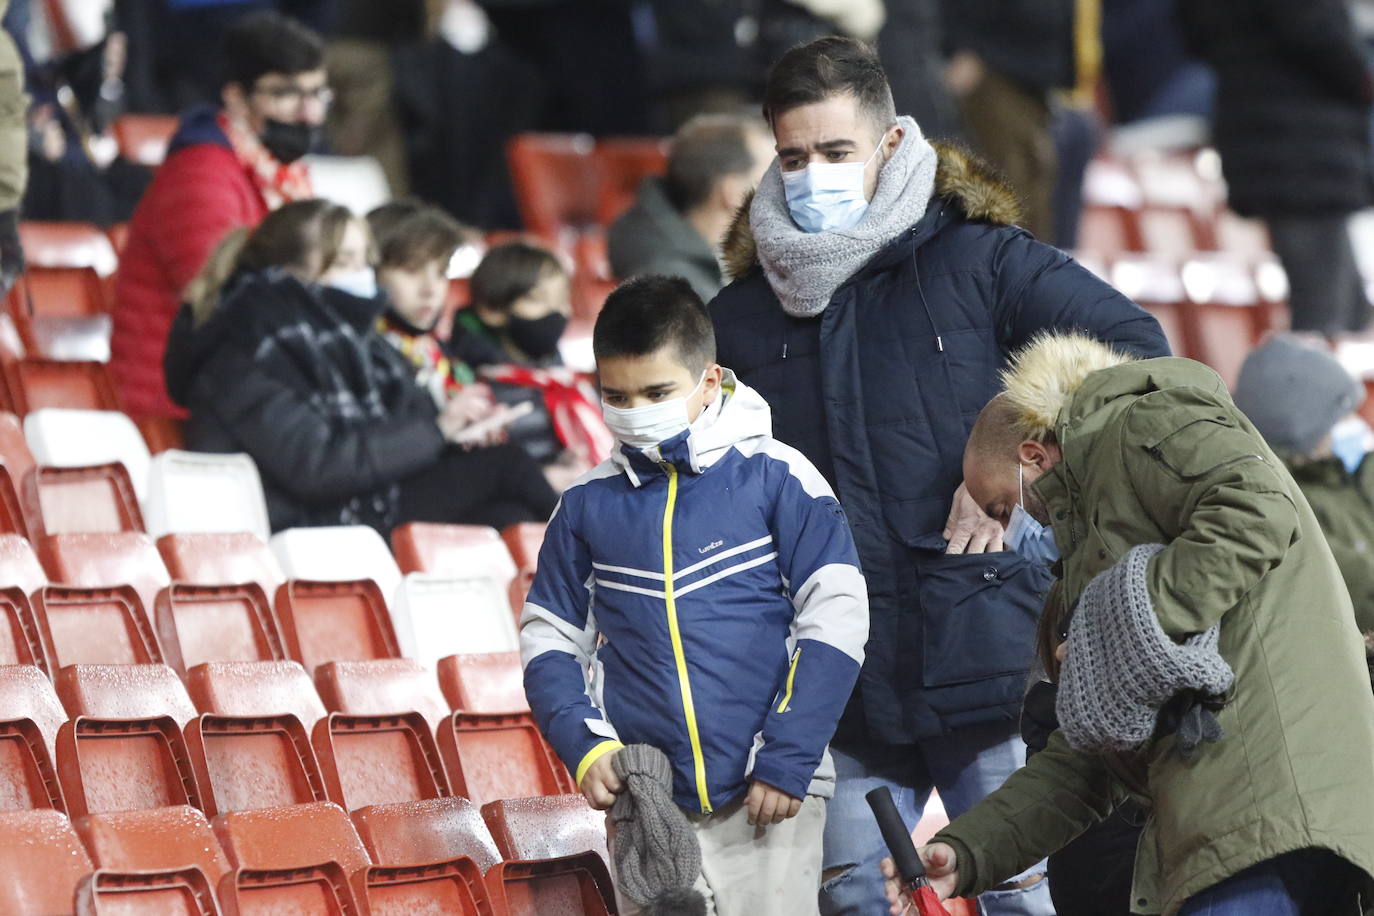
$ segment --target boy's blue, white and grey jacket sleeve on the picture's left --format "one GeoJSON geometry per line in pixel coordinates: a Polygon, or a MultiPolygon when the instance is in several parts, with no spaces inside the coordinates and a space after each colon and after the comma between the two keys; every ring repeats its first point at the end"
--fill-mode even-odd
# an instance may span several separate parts
{"type": "Polygon", "coordinates": [[[596,650],[591,607],[591,555],[573,516],[570,490],[550,519],[539,570],[521,614],[525,695],[539,729],[581,786],[587,768],[621,747],[592,699],[588,678],[596,650]]]}

